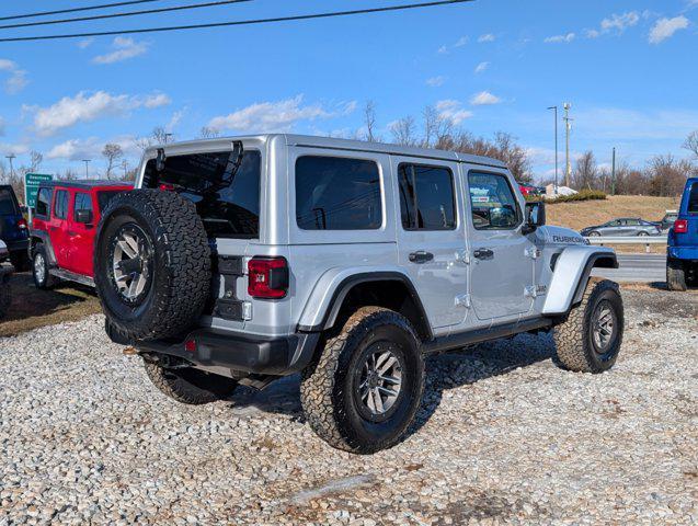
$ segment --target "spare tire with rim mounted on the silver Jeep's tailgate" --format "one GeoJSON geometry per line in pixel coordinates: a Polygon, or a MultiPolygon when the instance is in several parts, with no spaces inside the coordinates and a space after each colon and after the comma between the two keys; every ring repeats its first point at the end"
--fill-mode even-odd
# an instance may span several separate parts
{"type": "Polygon", "coordinates": [[[135,190],[106,206],[94,285],[108,322],[135,341],[176,336],[202,315],[210,248],[196,207],[174,192],[135,190]]]}

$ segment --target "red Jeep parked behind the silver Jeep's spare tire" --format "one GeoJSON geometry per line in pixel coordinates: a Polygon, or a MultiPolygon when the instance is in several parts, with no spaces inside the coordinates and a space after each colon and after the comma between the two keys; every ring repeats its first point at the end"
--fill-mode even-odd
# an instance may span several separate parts
{"type": "Polygon", "coordinates": [[[94,286],[92,250],[101,210],[133,184],[112,181],[42,183],[32,214],[30,258],[37,288],[57,279],[94,286]]]}

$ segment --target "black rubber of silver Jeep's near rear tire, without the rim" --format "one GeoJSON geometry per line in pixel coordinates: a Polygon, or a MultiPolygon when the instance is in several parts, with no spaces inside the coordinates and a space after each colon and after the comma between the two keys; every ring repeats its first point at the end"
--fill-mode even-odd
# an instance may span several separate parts
{"type": "Polygon", "coordinates": [[[371,454],[397,444],[414,420],[424,392],[424,361],[411,323],[380,307],[358,309],[339,333],[329,334],[324,348],[302,374],[300,399],[310,427],[328,444],[356,454],[371,454]],[[402,353],[401,398],[382,422],[359,413],[353,395],[358,357],[373,345],[390,345],[402,353]]]}

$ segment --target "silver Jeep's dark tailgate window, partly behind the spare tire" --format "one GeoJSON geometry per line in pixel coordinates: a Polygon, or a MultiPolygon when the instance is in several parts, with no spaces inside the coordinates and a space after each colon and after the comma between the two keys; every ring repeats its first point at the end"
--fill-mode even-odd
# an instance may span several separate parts
{"type": "Polygon", "coordinates": [[[146,186],[171,185],[196,205],[209,236],[254,239],[260,236],[262,156],[245,150],[234,178],[232,151],[168,157],[158,172],[146,164],[146,186]]]}

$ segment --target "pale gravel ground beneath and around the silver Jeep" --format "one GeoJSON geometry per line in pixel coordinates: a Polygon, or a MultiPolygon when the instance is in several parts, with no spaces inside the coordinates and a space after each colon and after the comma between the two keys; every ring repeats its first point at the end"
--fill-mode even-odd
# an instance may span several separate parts
{"type": "Polygon", "coordinates": [[[697,524],[698,296],[623,296],[610,373],[549,336],[430,358],[417,425],[368,457],[311,433],[295,377],[187,408],[100,316],[2,339],[0,525],[697,524]]]}

